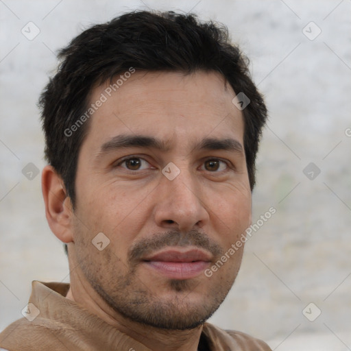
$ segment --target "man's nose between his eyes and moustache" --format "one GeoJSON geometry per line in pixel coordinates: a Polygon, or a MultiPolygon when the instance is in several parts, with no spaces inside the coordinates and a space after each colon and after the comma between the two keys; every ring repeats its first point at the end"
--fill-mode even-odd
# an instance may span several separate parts
{"type": "Polygon", "coordinates": [[[154,219],[159,227],[188,232],[208,223],[202,186],[186,171],[173,180],[162,178],[157,191],[154,219]]]}

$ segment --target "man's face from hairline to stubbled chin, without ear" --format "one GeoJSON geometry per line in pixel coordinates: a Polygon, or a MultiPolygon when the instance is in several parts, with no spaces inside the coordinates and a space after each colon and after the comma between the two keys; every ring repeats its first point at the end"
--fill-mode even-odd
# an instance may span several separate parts
{"type": "Polygon", "coordinates": [[[204,271],[251,223],[235,95],[218,73],[136,71],[91,117],[77,165],[74,250],[123,317],[194,328],[232,287],[243,247],[212,276],[204,271]],[[110,244],[100,251],[92,240],[101,232],[110,244]]]}

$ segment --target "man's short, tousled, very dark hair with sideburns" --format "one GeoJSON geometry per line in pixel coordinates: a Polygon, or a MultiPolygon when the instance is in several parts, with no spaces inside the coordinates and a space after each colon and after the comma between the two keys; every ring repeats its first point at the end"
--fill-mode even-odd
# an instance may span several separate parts
{"type": "Polygon", "coordinates": [[[58,72],[40,96],[45,157],[62,177],[75,204],[75,175],[80,146],[88,132],[88,98],[93,86],[131,67],[143,71],[217,71],[250,104],[243,110],[244,148],[251,189],[261,130],[267,119],[263,98],[252,82],[248,60],[230,43],[228,29],[201,23],[194,14],[136,11],[94,25],[62,49],[58,72]],[[83,116],[86,118],[83,118],[83,116]],[[77,122],[84,119],[84,123],[77,122]],[[74,133],[72,131],[73,125],[74,133]]]}

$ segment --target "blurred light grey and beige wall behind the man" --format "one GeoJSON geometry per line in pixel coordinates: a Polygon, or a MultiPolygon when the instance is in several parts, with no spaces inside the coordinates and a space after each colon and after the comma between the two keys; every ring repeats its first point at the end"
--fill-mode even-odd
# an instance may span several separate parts
{"type": "Polygon", "coordinates": [[[55,53],[90,25],[148,8],[225,23],[269,108],[253,222],[276,214],[247,241],[211,322],[278,351],[351,350],[350,0],[1,0],[0,330],[22,317],[32,280],[69,282],[36,174],[36,101],[55,53]]]}

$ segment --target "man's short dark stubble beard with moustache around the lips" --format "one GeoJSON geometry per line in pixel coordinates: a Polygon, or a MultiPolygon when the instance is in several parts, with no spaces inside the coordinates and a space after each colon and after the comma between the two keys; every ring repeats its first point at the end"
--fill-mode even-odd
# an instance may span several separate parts
{"type": "MultiPolygon", "coordinates": [[[[216,256],[221,254],[220,247],[211,246],[208,239],[202,241],[199,238],[197,233],[193,237],[192,243],[197,241],[199,247],[206,247],[216,256]]],[[[113,267],[113,265],[108,264],[109,262],[116,263],[117,261],[117,257],[111,258],[108,251],[106,251],[106,262],[100,263],[99,269],[86,259],[79,260],[80,267],[93,289],[117,314],[132,322],[154,328],[190,330],[204,324],[221,305],[234,283],[237,270],[231,271],[230,276],[224,279],[220,279],[218,276],[217,282],[213,278],[204,281],[204,277],[199,278],[201,282],[195,279],[170,279],[165,285],[165,292],[154,292],[152,282],[145,282],[145,278],[141,280],[137,275],[138,267],[141,265],[138,257],[147,250],[155,250],[156,247],[165,243],[185,246],[189,245],[189,240],[184,240],[184,237],[180,237],[180,235],[177,239],[174,232],[169,232],[162,236],[162,240],[152,239],[150,245],[144,242],[139,243],[138,247],[133,247],[128,252],[130,257],[128,269],[121,263],[124,273],[119,271],[117,274],[116,271],[108,269],[108,267],[113,267]],[[96,272],[102,269],[107,275],[99,277],[96,272]]],[[[116,266],[114,265],[114,267],[116,266]]],[[[219,273],[217,272],[217,274],[219,273]]]]}

